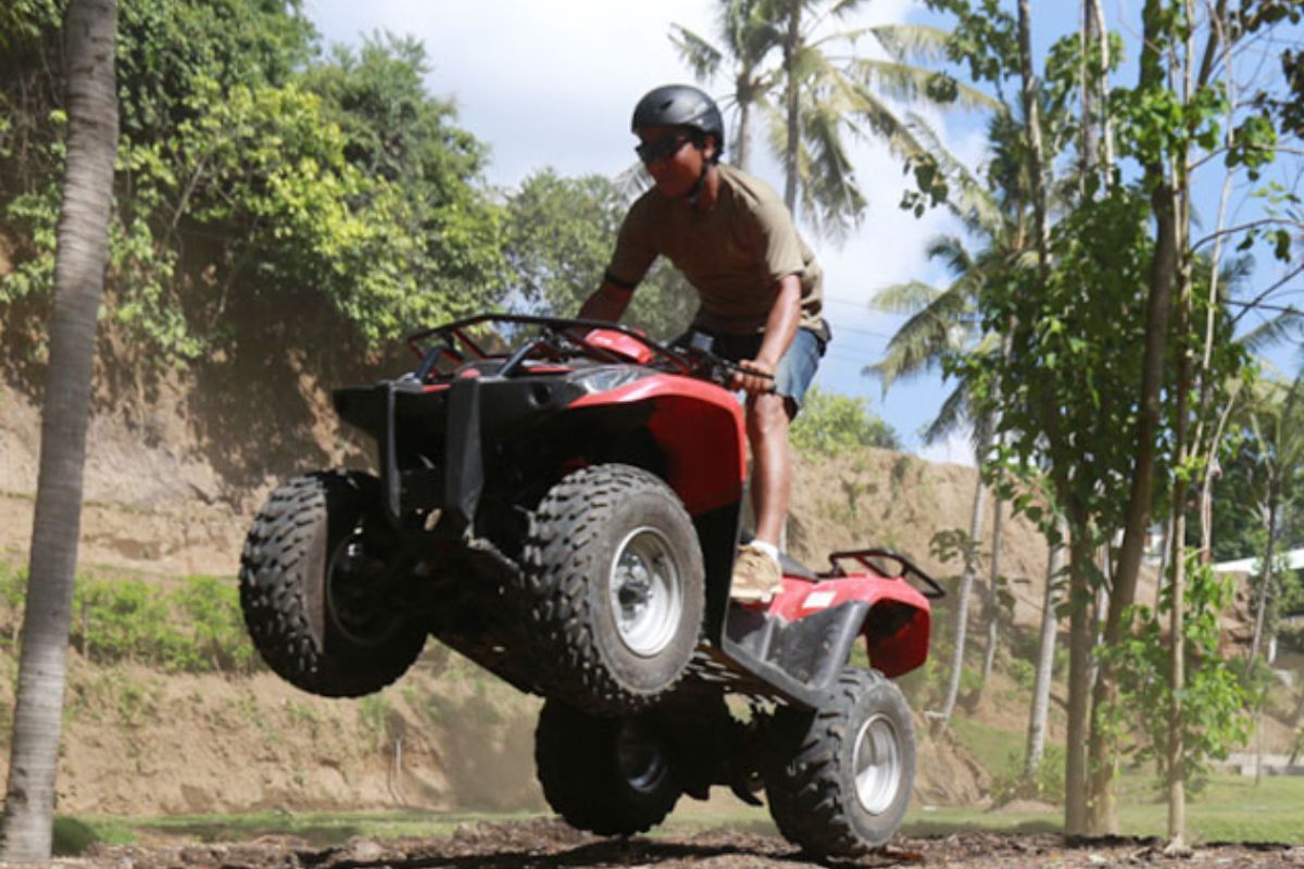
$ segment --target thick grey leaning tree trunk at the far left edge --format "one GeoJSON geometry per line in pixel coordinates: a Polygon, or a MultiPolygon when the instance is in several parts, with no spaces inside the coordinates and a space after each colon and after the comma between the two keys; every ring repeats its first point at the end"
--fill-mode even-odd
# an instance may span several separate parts
{"type": "Polygon", "coordinates": [[[69,0],[64,27],[68,163],[0,851],[4,860],[22,862],[51,855],[95,319],[104,288],[117,152],[116,0],[69,0]]]}

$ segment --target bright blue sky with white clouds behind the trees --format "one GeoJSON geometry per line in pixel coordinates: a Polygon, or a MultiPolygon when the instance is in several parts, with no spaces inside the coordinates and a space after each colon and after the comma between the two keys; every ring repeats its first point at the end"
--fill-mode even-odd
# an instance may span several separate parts
{"type": "MultiPolygon", "coordinates": [[[[669,39],[670,25],[715,40],[717,5],[716,0],[305,0],[304,10],[327,43],[357,44],[364,34],[385,30],[420,39],[433,66],[428,90],[454,100],[458,124],[489,146],[488,181],[510,190],[546,167],[574,176],[627,169],[635,162],[629,129],[634,104],[657,85],[692,81],[669,39]]],[[[1037,4],[1034,36],[1074,29],[1077,5],[1037,4]]],[[[1136,5],[1106,3],[1108,26],[1123,30],[1125,39],[1138,17],[1136,5]]],[[[844,26],[901,22],[911,14],[917,20],[919,13],[910,0],[874,0],[844,26]]],[[[859,48],[870,44],[862,42],[859,48]]],[[[704,87],[717,96],[728,91],[722,79],[704,87]]],[[[953,154],[969,165],[981,162],[981,116],[930,120],[953,154]]],[[[825,315],[833,330],[815,383],[868,399],[908,449],[971,464],[962,436],[921,444],[919,431],[949,392],[940,375],[895,384],[884,396],[878,382],[862,374],[882,358],[902,322],[871,310],[870,297],[906,280],[944,284],[944,272],[927,262],[925,249],[928,238],[957,227],[941,211],[917,219],[898,208],[906,178],[901,162],[882,145],[857,145],[853,162],[870,203],[858,231],[837,245],[803,229],[824,267],[825,315]]],[[[782,190],[777,163],[759,160],[751,169],[782,190]]]]}

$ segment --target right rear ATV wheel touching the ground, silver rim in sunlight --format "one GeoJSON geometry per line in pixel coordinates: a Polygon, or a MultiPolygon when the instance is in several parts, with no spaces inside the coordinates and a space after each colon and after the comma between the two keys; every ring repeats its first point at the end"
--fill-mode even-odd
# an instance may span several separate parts
{"type": "Polygon", "coordinates": [[[914,724],[882,674],[846,667],[824,706],[778,710],[767,749],[769,813],[806,852],[853,857],[901,826],[914,787],[914,724]]]}

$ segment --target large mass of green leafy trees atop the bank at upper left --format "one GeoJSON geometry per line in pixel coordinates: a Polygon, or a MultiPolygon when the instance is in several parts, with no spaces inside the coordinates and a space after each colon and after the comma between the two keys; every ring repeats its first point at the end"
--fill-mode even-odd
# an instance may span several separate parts
{"type": "MultiPolygon", "coordinates": [[[[50,293],[64,134],[59,16],[4,14],[22,51],[0,60],[0,180],[17,193],[0,311],[50,293]]],[[[426,95],[419,43],[318,60],[286,0],[126,0],[120,20],[106,298],[143,360],[230,349],[286,310],[301,349],[323,352],[314,326],[333,349],[377,347],[501,297],[485,149],[426,95]]]]}

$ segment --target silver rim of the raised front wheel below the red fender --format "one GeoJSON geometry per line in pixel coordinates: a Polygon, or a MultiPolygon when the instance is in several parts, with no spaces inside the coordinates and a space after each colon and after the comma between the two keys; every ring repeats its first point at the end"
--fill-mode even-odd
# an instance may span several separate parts
{"type": "Polygon", "coordinates": [[[647,525],[626,534],[608,591],[615,632],[630,651],[651,658],[670,644],[683,614],[683,580],[665,534],[647,525]]]}

